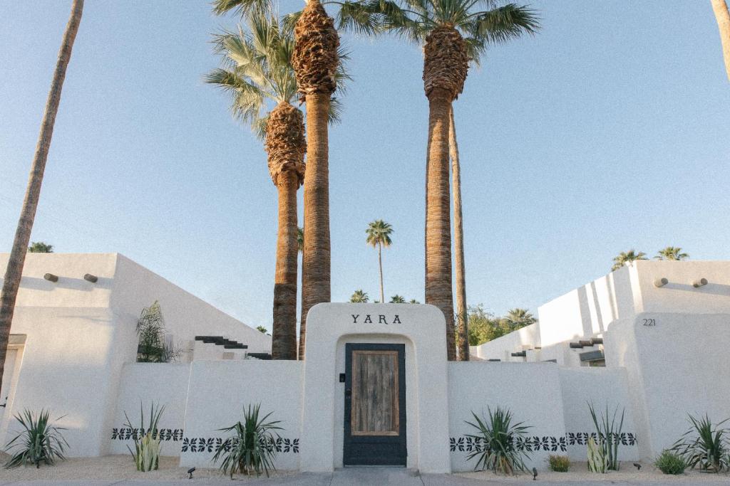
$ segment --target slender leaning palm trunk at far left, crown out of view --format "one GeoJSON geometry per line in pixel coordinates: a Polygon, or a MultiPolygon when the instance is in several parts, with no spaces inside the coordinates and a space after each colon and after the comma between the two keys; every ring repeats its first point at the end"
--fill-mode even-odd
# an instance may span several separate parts
{"type": "Polygon", "coordinates": [[[28,252],[28,241],[31,239],[31,230],[36,217],[38,199],[40,197],[43,173],[48,159],[50,140],[53,137],[55,115],[58,113],[58,105],[61,103],[61,90],[66,79],[66,68],[69,67],[71,52],[74,47],[74,40],[79,31],[81,15],[84,8],[83,0],[73,0],[69,23],[66,24],[64,38],[61,41],[61,49],[58,51],[58,61],[53,71],[53,79],[50,84],[50,93],[46,101],[43,121],[41,123],[36,153],[31,166],[31,175],[28,179],[28,189],[23,200],[23,208],[20,210],[18,228],[15,230],[15,239],[12,242],[12,250],[5,270],[5,278],[0,297],[0,382],[5,368],[5,354],[7,342],[10,336],[10,325],[12,315],[15,313],[15,299],[18,297],[20,288],[20,277],[23,275],[23,265],[26,263],[28,252]]]}

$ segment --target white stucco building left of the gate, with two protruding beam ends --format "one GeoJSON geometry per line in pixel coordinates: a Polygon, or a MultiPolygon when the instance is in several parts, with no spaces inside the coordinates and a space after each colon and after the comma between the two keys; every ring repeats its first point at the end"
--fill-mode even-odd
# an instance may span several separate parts
{"type": "MultiPolygon", "coordinates": [[[[0,267],[7,259],[0,254],[0,267]]],[[[250,350],[270,349],[270,337],[119,254],[28,254],[11,328],[26,342],[0,442],[15,427],[10,416],[45,408],[66,415],[58,425],[68,429],[70,457],[109,452],[122,369],[137,356],[137,318],[155,299],[179,339],[224,335],[253,343],[250,350]],[[58,282],[46,281],[45,273],[58,282]],[[85,273],[98,281],[83,280],[85,273]]]]}

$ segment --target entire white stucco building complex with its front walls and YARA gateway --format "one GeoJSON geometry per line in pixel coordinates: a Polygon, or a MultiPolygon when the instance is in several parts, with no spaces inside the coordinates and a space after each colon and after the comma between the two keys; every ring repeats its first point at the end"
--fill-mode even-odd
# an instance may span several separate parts
{"type": "Polygon", "coordinates": [[[588,402],[625,410],[622,460],[648,460],[671,445],[686,430],[687,413],[730,416],[727,262],[618,270],[540,307],[539,325],[475,349],[499,362],[447,362],[442,313],[407,304],[320,304],[307,317],[304,361],[240,359],[215,342],[190,343],[219,336],[266,352],[269,337],[123,256],[31,254],[25,275],[2,427],[23,408],[66,414],[60,425],[71,456],[126,453],[137,426],[126,426],[124,412],[137,420],[140,404],[152,403],[166,407],[163,452],[183,466],[212,467],[220,428],[241,420],[246,405],[261,404],[282,420],[272,444],[277,468],[303,471],[358,463],[470,470],[466,457],[479,444],[466,420],[498,406],[531,426],[515,445],[531,452],[537,469],[549,454],[585,459],[594,433],[588,402]],[[654,286],[661,278],[668,283],[654,286]],[[707,285],[692,286],[702,278],[707,285]],[[169,331],[193,349],[183,362],[135,362],[134,326],[154,300],[169,331]],[[570,348],[591,338],[595,345],[570,348]],[[577,366],[588,349],[602,350],[606,366],[577,366]],[[525,356],[512,356],[521,350],[525,356]],[[363,407],[377,407],[377,423],[353,413],[363,407]]]}

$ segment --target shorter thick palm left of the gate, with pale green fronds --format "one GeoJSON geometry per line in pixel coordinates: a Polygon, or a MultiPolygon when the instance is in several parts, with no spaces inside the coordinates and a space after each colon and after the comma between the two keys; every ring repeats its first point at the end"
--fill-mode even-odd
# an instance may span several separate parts
{"type": "Polygon", "coordinates": [[[231,95],[234,117],[264,138],[269,173],[279,196],[272,358],[296,359],[297,237],[296,191],[304,180],[304,114],[295,108],[296,80],[291,67],[294,41],[276,17],[254,12],[248,31],[215,36],[223,68],[206,82],[231,95]],[[275,104],[271,111],[266,111],[275,104]]]}

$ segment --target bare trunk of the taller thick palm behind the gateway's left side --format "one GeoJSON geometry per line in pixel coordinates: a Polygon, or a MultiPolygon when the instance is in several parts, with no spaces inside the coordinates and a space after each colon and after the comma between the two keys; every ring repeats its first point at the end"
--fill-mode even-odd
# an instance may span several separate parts
{"type": "Polygon", "coordinates": [[[330,95],[307,95],[307,171],[304,173],[304,253],[301,260],[299,359],[304,359],[307,313],[329,302],[329,154],[327,121],[330,95]]]}

